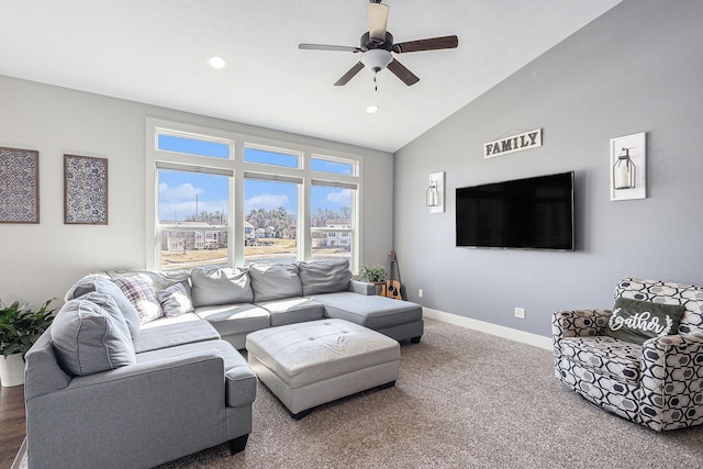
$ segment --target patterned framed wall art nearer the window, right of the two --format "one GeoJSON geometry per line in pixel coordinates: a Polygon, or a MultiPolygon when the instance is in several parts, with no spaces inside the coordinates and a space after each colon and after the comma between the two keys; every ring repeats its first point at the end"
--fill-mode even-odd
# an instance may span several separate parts
{"type": "Polygon", "coordinates": [[[64,155],[64,223],[108,224],[108,159],[64,155]]]}

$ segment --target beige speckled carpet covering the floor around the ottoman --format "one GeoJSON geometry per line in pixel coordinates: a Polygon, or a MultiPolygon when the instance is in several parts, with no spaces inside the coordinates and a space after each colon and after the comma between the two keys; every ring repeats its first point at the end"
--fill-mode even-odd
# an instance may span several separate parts
{"type": "Polygon", "coordinates": [[[294,421],[259,386],[244,453],[222,445],[163,468],[283,467],[699,468],[703,426],[657,434],[559,384],[548,350],[427,320],[394,388],[294,421]]]}

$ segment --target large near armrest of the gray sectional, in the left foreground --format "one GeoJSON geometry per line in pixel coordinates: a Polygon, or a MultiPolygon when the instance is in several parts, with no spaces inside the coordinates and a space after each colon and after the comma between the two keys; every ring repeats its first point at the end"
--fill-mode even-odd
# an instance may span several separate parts
{"type": "Polygon", "coordinates": [[[26,401],[30,467],[152,467],[224,442],[216,350],[86,377],[26,401]]]}

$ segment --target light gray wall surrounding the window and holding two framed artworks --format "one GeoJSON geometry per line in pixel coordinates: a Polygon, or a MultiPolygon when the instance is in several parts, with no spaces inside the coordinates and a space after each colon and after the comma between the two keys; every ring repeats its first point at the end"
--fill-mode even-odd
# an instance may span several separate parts
{"type": "Polygon", "coordinates": [[[40,152],[41,197],[38,225],[0,224],[0,299],[60,305],[88,272],[144,268],[146,116],[364,155],[361,263],[388,258],[388,153],[0,76],[0,146],[40,152]],[[64,225],[64,154],[109,158],[108,226],[64,225]]]}

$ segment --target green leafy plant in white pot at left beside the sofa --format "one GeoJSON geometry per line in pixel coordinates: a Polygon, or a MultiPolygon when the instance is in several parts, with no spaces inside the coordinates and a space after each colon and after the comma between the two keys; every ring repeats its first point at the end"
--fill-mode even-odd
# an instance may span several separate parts
{"type": "Polygon", "coordinates": [[[37,311],[19,301],[7,305],[0,300],[0,384],[24,383],[24,354],[54,321],[46,301],[37,311]]]}

